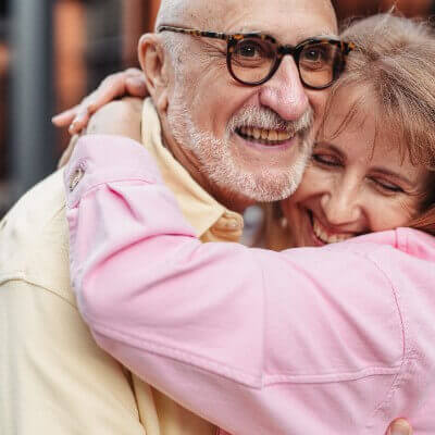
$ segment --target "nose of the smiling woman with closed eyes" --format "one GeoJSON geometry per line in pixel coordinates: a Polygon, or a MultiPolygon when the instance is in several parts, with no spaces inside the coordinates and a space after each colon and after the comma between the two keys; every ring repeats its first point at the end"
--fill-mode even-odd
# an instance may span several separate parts
{"type": "Polygon", "coordinates": [[[356,223],[362,216],[358,189],[344,184],[325,191],[321,198],[321,206],[327,223],[332,226],[356,223]]]}

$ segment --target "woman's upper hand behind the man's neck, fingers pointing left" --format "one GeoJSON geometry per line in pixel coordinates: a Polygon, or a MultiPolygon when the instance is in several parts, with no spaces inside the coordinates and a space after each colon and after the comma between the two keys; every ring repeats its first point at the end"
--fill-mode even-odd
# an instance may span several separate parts
{"type": "Polygon", "coordinates": [[[148,96],[144,73],[129,69],[108,76],[101,85],[73,109],[55,115],[52,122],[58,127],[69,126],[71,135],[79,134],[89,123],[90,117],[107,103],[132,96],[144,99],[148,96]]]}

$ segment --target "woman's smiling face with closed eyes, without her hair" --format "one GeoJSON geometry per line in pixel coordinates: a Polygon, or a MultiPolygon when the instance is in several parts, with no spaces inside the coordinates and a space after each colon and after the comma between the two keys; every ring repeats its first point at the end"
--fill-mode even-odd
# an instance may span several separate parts
{"type": "Polygon", "coordinates": [[[346,99],[336,98],[300,187],[282,202],[295,246],[396,228],[418,211],[427,171],[411,164],[394,135],[376,136],[374,102],[338,136],[331,134],[348,113],[346,99]]]}

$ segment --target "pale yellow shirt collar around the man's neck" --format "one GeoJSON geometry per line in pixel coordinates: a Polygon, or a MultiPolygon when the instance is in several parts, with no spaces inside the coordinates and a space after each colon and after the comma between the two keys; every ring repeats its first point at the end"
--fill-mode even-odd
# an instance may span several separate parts
{"type": "Polygon", "coordinates": [[[201,237],[213,227],[220,233],[228,233],[224,238],[232,239],[235,237],[231,234],[241,234],[241,215],[219,203],[163,146],[159,115],[150,98],[144,102],[141,132],[144,146],[156,158],[163,179],[174,192],[184,216],[196,228],[198,236],[201,237]]]}

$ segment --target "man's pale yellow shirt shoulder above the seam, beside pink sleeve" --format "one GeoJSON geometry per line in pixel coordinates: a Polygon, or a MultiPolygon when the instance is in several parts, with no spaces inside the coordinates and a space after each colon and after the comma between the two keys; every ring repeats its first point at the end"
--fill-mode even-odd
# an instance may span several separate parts
{"type": "Polygon", "coordinates": [[[62,170],[27,191],[0,225],[0,284],[18,278],[72,300],[62,170]]]}

